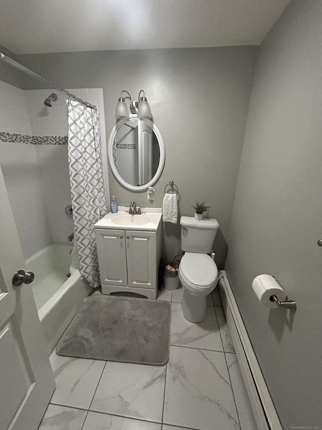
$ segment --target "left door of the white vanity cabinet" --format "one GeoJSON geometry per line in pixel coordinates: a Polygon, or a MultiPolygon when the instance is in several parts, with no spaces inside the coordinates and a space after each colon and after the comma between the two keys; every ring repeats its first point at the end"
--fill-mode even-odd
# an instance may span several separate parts
{"type": "Polygon", "coordinates": [[[96,228],[101,283],[127,286],[125,231],[96,228]]]}

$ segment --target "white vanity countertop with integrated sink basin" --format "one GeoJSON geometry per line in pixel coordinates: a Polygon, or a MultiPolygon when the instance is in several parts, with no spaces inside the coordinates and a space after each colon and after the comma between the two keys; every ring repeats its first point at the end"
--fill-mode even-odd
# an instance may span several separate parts
{"type": "Polygon", "coordinates": [[[104,218],[100,219],[96,224],[95,228],[113,228],[113,229],[126,229],[126,230],[148,230],[156,231],[157,227],[162,218],[161,208],[142,208],[142,215],[129,215],[130,208],[128,206],[119,206],[117,213],[108,213],[104,218]],[[120,218],[122,217],[122,218],[120,218]],[[140,218],[141,217],[141,218],[140,218]],[[114,222],[119,218],[118,223],[114,222]],[[140,219],[139,219],[140,218],[140,219]],[[144,224],[136,224],[136,221],[145,220],[148,221],[144,224]],[[121,222],[119,222],[121,220],[121,222]]]}

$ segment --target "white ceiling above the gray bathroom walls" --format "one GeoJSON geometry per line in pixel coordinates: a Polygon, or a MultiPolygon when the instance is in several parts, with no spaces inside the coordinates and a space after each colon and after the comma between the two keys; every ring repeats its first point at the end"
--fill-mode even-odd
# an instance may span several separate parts
{"type": "Polygon", "coordinates": [[[290,0],[1,0],[15,53],[259,45],[290,0]]]}

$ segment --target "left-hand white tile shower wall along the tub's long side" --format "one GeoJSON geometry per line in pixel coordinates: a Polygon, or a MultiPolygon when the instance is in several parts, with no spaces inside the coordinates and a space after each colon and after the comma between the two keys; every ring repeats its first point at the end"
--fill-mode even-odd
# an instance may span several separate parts
{"type": "MultiPolygon", "coordinates": [[[[25,92],[2,81],[0,131],[31,135],[25,92]]],[[[27,259],[52,242],[36,145],[1,141],[0,165],[27,259]]]]}

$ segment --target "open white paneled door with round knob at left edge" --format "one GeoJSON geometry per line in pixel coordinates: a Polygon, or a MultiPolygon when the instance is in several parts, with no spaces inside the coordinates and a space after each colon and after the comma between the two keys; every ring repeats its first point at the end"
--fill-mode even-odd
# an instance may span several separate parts
{"type": "Polygon", "coordinates": [[[1,168],[0,202],[0,430],[36,430],[55,382],[1,168]]]}

